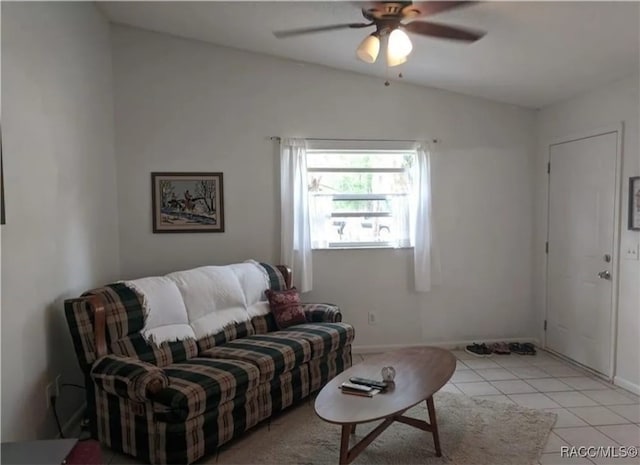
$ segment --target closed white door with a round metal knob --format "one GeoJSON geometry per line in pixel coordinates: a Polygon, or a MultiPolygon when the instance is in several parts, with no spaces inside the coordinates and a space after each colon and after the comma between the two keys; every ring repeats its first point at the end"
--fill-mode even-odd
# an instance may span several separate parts
{"type": "Polygon", "coordinates": [[[546,346],[611,374],[618,133],[549,146],[546,346]]]}

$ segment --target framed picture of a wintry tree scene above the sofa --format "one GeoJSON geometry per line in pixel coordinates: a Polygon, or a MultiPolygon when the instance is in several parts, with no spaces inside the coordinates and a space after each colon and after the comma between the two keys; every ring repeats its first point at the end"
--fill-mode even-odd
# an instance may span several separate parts
{"type": "Polygon", "coordinates": [[[151,173],[153,232],[224,232],[222,173],[151,173]]]}

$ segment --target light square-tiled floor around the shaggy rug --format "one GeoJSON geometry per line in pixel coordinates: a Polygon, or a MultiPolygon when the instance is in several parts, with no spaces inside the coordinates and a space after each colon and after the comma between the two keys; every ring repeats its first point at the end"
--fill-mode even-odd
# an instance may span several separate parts
{"type": "MultiPolygon", "coordinates": [[[[640,447],[640,398],[637,395],[544,351],[538,351],[535,356],[511,354],[489,358],[464,351],[454,351],[454,354],[458,358],[456,372],[443,390],[544,409],[558,415],[540,458],[541,465],[640,464],[637,457],[579,458],[560,454],[562,447],[572,446],[640,447]]],[[[354,354],[353,363],[371,355],[354,354]]],[[[303,405],[306,407],[300,408],[309,406],[303,405]]],[[[278,421],[258,428],[273,430],[278,421]]],[[[106,448],[103,454],[106,464],[140,463],[106,448]]],[[[199,463],[216,461],[223,463],[223,455],[207,457],[199,463]]]]}

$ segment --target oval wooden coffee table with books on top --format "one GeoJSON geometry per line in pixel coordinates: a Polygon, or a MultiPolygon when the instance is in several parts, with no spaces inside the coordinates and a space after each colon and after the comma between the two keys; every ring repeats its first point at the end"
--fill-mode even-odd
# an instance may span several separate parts
{"type": "Polygon", "coordinates": [[[340,464],[351,463],[394,421],[431,432],[436,456],[440,457],[442,451],[433,394],[449,381],[455,369],[456,359],[448,350],[416,347],[367,358],[333,378],[318,394],[315,410],[323,420],[342,425],[340,464]],[[343,394],[339,388],[352,376],[380,380],[380,370],[388,365],[396,369],[396,377],[395,383],[384,392],[373,397],[361,397],[343,394]],[[427,402],[429,423],[403,415],[423,400],[427,402]],[[376,420],[383,421],[349,449],[349,436],[355,432],[356,425],[376,420]]]}

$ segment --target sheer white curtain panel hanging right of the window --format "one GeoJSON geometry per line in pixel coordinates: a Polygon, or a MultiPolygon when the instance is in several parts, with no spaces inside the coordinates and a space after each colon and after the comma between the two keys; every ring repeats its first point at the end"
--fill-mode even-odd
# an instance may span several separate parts
{"type": "Polygon", "coordinates": [[[413,266],[415,289],[429,292],[439,274],[435,256],[435,240],[432,228],[431,210],[431,167],[430,147],[427,142],[416,144],[416,166],[414,170],[412,208],[414,224],[411,228],[413,239],[413,266]]]}

